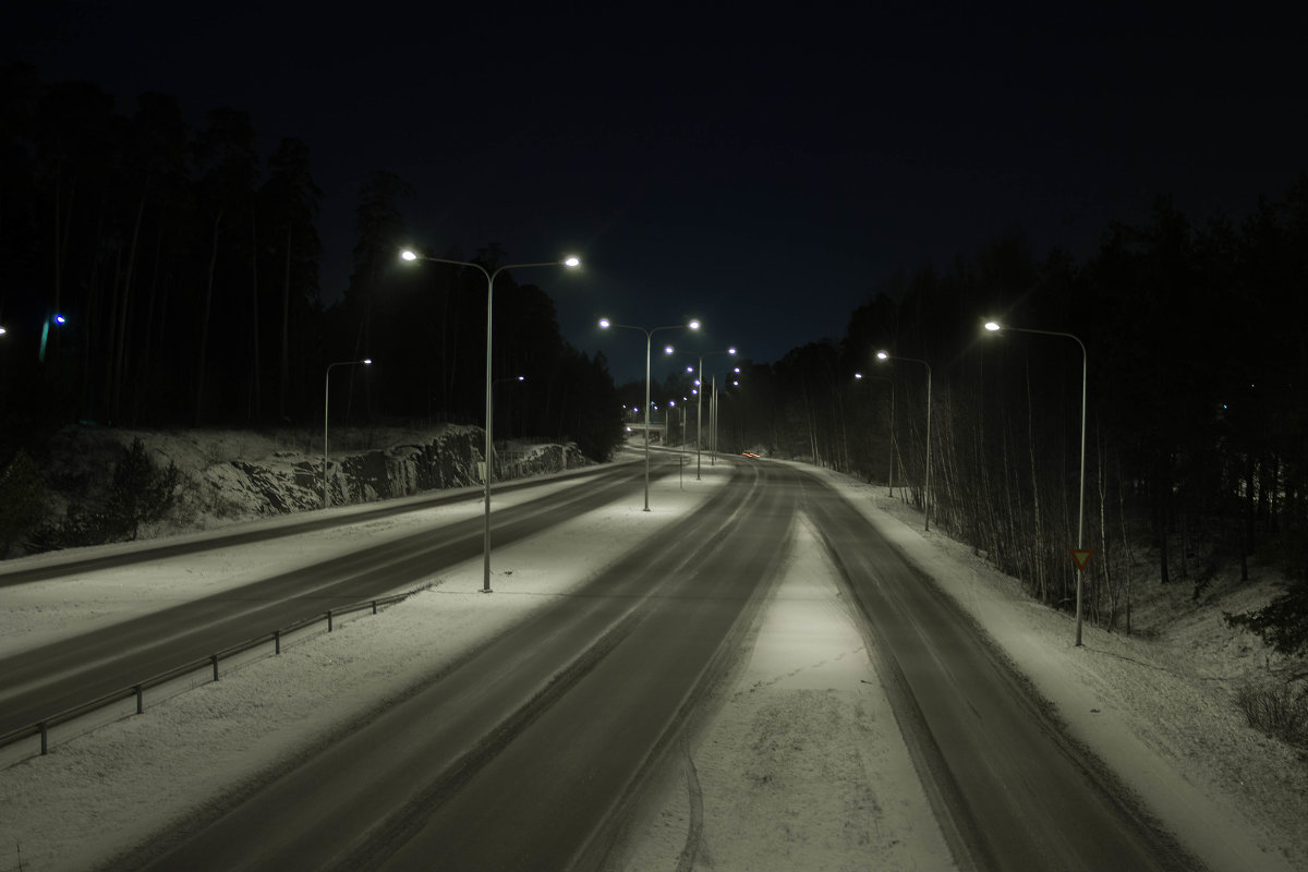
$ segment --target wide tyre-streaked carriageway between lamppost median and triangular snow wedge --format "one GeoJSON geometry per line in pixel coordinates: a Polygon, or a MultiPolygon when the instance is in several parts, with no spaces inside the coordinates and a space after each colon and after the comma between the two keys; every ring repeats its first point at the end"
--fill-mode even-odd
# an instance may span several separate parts
{"type": "Polygon", "coordinates": [[[131,865],[566,867],[752,622],[787,546],[794,478],[742,464],[658,541],[131,865]]]}

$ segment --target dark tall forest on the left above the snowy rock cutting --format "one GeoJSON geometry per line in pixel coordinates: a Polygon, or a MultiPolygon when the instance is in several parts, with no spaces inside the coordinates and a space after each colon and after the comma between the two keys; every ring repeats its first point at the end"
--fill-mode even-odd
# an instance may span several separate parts
{"type": "MultiPolygon", "coordinates": [[[[0,68],[0,403],[3,459],[76,421],[109,426],[263,426],[332,417],[479,422],[485,284],[454,268],[402,269],[405,183],[358,192],[344,299],[319,297],[310,146],[262,156],[250,116],[192,128],[175,97],[129,114],[85,82],[0,68]]],[[[493,268],[504,252],[475,255],[493,268]]],[[[603,358],[560,337],[539,288],[496,284],[497,435],[619,438],[603,358]]]]}

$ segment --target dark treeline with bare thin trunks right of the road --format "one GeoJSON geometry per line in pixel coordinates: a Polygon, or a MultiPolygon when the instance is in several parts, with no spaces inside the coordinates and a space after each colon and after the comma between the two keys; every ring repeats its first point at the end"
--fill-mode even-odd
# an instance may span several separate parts
{"type": "Polygon", "coordinates": [[[986,332],[989,318],[1087,348],[1090,618],[1130,629],[1129,565],[1150,561],[1198,599],[1219,569],[1247,578],[1257,556],[1291,586],[1240,620],[1308,650],[1308,176],[1239,225],[1196,227],[1160,197],[1147,224],[1112,226],[1084,263],[1057,250],[1040,260],[1011,234],[944,271],[897,276],[841,340],[748,366],[719,404],[722,450],[886,485],[893,475],[923,506],[927,367],[916,361],[929,363],[933,527],[1070,609],[1082,350],[986,332]],[[882,362],[878,349],[912,360],[882,362]]]}

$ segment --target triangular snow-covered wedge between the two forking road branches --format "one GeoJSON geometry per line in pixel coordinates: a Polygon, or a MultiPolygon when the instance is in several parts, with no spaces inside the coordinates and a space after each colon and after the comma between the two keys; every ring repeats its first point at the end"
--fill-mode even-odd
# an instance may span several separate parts
{"type": "Polygon", "coordinates": [[[955,868],[835,578],[799,524],[743,665],[655,782],[624,869],[675,869],[689,850],[698,869],[955,868]]]}

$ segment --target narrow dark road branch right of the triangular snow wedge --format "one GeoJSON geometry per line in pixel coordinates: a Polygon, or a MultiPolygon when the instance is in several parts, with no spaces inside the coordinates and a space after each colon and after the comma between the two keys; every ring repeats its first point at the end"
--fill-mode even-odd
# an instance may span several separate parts
{"type": "Polygon", "coordinates": [[[832,488],[807,488],[964,869],[1198,869],[982,631],[832,488]]]}

